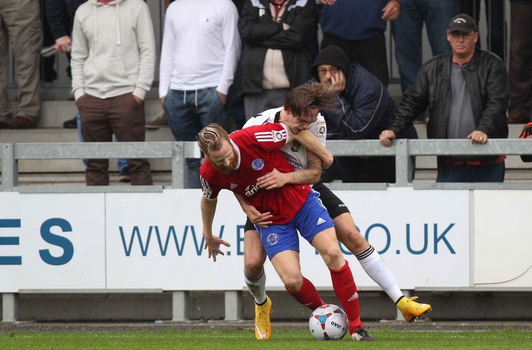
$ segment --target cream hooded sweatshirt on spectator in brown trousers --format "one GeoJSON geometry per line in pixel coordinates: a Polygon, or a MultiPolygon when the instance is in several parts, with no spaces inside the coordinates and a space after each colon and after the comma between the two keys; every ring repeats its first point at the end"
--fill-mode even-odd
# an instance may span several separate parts
{"type": "Polygon", "coordinates": [[[83,3],[74,18],[72,92],[106,99],[132,92],[144,99],[155,69],[155,38],[142,0],[83,3]]]}

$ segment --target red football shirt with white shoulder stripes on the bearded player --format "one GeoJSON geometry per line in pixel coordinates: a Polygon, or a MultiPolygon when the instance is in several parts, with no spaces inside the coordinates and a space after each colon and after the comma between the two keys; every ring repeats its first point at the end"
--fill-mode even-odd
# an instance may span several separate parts
{"type": "Polygon", "coordinates": [[[256,185],[260,176],[272,172],[274,168],[283,173],[294,171],[277,150],[286,144],[286,137],[286,126],[276,123],[247,127],[230,134],[232,146],[239,158],[237,169],[230,174],[223,174],[207,158],[200,168],[203,196],[208,200],[214,199],[225,188],[244,195],[258,211],[269,211],[274,224],[292,220],[307,200],[309,185],[287,184],[273,190],[257,188],[256,185]]]}

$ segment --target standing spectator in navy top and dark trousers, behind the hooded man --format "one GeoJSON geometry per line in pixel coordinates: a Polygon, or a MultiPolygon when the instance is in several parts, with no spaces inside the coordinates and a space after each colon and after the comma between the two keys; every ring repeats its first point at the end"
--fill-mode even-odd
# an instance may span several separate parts
{"type": "Polygon", "coordinates": [[[321,48],[337,45],[349,60],[357,62],[388,86],[386,21],[401,13],[406,0],[321,0],[323,40],[321,48]]]}

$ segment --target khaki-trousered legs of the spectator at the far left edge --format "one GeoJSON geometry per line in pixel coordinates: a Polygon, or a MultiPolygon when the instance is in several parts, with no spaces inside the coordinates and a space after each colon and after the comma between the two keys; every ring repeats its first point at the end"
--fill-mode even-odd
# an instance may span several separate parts
{"type": "Polygon", "coordinates": [[[0,2],[0,128],[34,127],[41,111],[39,80],[43,29],[38,0],[0,2]],[[18,106],[15,118],[9,106],[9,45],[18,76],[18,106]],[[12,119],[12,120],[11,120],[12,119]]]}

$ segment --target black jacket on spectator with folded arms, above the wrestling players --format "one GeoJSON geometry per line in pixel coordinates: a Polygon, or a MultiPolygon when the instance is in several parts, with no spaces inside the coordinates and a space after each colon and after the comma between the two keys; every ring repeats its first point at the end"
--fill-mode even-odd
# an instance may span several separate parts
{"type": "Polygon", "coordinates": [[[238,22],[242,38],[239,65],[240,94],[262,92],[262,71],[268,49],[281,50],[290,87],[311,78],[311,59],[307,46],[317,30],[314,0],[288,0],[281,21],[274,22],[268,0],[248,0],[238,22]],[[289,25],[283,29],[283,23],[289,25]]]}

